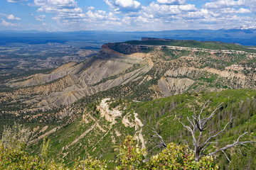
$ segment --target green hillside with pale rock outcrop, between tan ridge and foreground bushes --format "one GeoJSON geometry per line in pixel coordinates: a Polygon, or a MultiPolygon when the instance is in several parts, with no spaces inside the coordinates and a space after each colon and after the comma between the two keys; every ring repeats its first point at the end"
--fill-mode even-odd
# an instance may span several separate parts
{"type": "MultiPolygon", "coordinates": [[[[223,128],[225,123],[228,123],[231,116],[236,117],[226,133],[217,139],[219,145],[209,147],[209,149],[233,142],[238,134],[242,134],[245,130],[248,130],[249,135],[241,140],[253,139],[256,132],[255,95],[255,90],[225,90],[211,93],[181,94],[147,102],[104,98],[90,103],[85,108],[82,117],[75,122],[63,125],[61,128],[55,126],[52,131],[50,128],[48,128],[49,131],[45,131],[48,139],[50,139],[50,155],[52,157],[57,155],[58,159],[64,159],[68,164],[72,164],[78,156],[91,155],[100,157],[100,159],[107,159],[111,167],[118,153],[116,146],[124,140],[126,135],[133,135],[139,146],[148,151],[155,146],[146,140],[152,134],[148,125],[156,128],[166,143],[183,143],[183,140],[188,140],[189,145],[192,145],[189,132],[183,129],[181,122],[188,124],[186,117],[193,115],[193,110],[198,113],[208,100],[210,102],[202,116],[208,115],[220,103],[223,103],[223,107],[218,109],[213,120],[208,123],[208,132],[217,132],[223,128]]],[[[38,128],[37,132],[41,131],[41,128],[38,128]]],[[[41,134],[41,136],[45,135],[41,134]]],[[[42,138],[41,136],[35,138],[42,138]]],[[[256,146],[246,147],[248,155],[253,152],[252,148],[254,147],[256,146]]],[[[242,147],[241,149],[244,152],[245,148],[242,147]]],[[[31,151],[40,151],[40,146],[33,143],[31,151]]],[[[154,149],[149,154],[156,152],[159,150],[154,149]]],[[[235,150],[232,150],[227,153],[231,157],[234,152],[235,150]]],[[[242,159],[247,160],[250,157],[245,156],[242,159]]],[[[221,160],[219,164],[227,168],[228,164],[225,162],[226,159],[223,154],[220,154],[218,160],[221,160]]]]}

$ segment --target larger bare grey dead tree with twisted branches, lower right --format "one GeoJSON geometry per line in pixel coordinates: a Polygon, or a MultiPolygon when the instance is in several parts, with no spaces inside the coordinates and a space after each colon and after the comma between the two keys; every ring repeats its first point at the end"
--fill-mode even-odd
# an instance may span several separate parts
{"type": "MultiPolygon", "coordinates": [[[[191,132],[191,136],[192,136],[192,140],[193,140],[193,152],[195,154],[195,161],[196,162],[198,162],[200,160],[200,158],[203,157],[203,156],[206,156],[206,155],[212,156],[212,155],[214,155],[218,152],[224,152],[225,149],[228,149],[230,147],[235,147],[236,145],[245,145],[246,143],[256,142],[256,141],[240,142],[240,138],[247,134],[247,132],[245,131],[242,135],[239,135],[239,137],[237,138],[237,140],[235,140],[235,142],[233,142],[233,144],[226,145],[225,147],[221,147],[220,149],[216,149],[214,152],[210,152],[209,154],[205,154],[204,151],[206,150],[206,148],[209,145],[218,143],[218,142],[213,142],[213,140],[215,140],[215,137],[224,133],[224,131],[226,130],[228,125],[235,118],[235,117],[231,118],[230,121],[225,125],[225,127],[222,130],[220,130],[218,132],[215,132],[215,135],[211,135],[212,133],[209,132],[208,137],[206,138],[206,140],[203,141],[203,132],[205,132],[209,128],[209,127],[206,127],[206,124],[209,122],[209,120],[211,120],[211,118],[213,118],[216,111],[218,111],[218,109],[223,104],[223,103],[221,103],[217,108],[215,108],[215,110],[212,113],[210,113],[209,116],[206,116],[205,118],[201,118],[201,115],[203,113],[204,108],[206,108],[207,103],[208,103],[208,101],[206,101],[206,103],[204,104],[204,106],[201,109],[201,112],[199,114],[196,114],[196,112],[193,111],[192,119],[187,117],[188,122],[190,123],[190,126],[181,123],[183,125],[183,127],[186,128],[186,130],[191,132]],[[198,136],[196,136],[196,131],[197,130],[199,130],[199,135],[198,136]]],[[[188,142],[187,142],[187,144],[188,144],[188,142]]],[[[224,154],[225,154],[225,152],[224,152],[224,154]]],[[[226,154],[225,154],[225,156],[227,157],[226,154]]],[[[228,157],[227,157],[227,159],[228,159],[228,157]]]]}

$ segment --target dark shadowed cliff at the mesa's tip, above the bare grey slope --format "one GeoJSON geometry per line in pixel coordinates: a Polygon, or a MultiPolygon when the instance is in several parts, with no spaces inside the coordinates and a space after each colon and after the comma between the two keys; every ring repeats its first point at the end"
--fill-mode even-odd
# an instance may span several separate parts
{"type": "Polygon", "coordinates": [[[114,55],[132,55],[136,52],[142,52],[141,47],[139,45],[129,45],[127,43],[106,43],[105,45],[102,45],[102,48],[100,50],[102,53],[110,53],[114,55]]]}

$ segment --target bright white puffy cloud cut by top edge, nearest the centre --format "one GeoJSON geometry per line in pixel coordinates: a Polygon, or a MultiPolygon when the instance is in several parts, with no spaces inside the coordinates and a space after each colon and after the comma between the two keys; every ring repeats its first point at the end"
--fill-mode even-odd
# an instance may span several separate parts
{"type": "Polygon", "coordinates": [[[114,11],[132,11],[141,7],[139,1],[134,0],[104,0],[114,11]]]}

